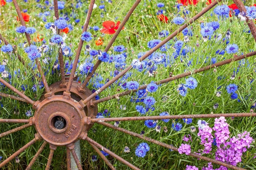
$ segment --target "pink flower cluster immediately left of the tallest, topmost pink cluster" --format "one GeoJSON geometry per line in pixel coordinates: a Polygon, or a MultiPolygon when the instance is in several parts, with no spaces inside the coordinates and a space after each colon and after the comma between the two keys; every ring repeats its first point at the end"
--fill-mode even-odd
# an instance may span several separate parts
{"type": "Polygon", "coordinates": [[[203,153],[210,153],[212,151],[212,142],[213,142],[213,136],[212,136],[212,128],[210,128],[208,125],[204,125],[202,129],[199,129],[198,136],[201,136],[201,142],[200,144],[204,145],[203,153]]]}

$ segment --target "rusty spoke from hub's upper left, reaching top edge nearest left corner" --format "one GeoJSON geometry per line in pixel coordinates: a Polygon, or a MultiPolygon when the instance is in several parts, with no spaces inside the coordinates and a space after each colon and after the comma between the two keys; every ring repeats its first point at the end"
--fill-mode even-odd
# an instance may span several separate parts
{"type": "MultiPolygon", "coordinates": [[[[23,19],[23,17],[22,17],[22,14],[21,14],[21,12],[20,12],[20,8],[19,8],[19,5],[18,5],[17,1],[16,1],[16,0],[13,0],[13,4],[14,4],[15,10],[16,10],[16,12],[17,12],[17,14],[18,14],[20,23],[22,24],[22,26],[26,27],[25,21],[24,21],[24,19],[23,19]]],[[[27,40],[28,40],[28,44],[29,44],[29,46],[30,46],[30,45],[31,45],[31,38],[30,38],[30,35],[29,35],[28,33],[26,33],[26,32],[25,32],[25,35],[26,35],[26,38],[27,38],[27,40]]],[[[48,84],[47,84],[47,82],[46,82],[44,72],[42,71],[41,64],[40,64],[40,62],[39,62],[39,60],[38,60],[37,58],[35,59],[35,64],[37,64],[37,68],[38,68],[38,71],[39,71],[39,73],[40,73],[40,75],[41,75],[41,78],[42,78],[42,82],[43,82],[43,84],[44,84],[45,91],[46,91],[46,93],[48,93],[48,92],[50,92],[50,89],[49,89],[49,86],[48,86],[48,84]]]]}

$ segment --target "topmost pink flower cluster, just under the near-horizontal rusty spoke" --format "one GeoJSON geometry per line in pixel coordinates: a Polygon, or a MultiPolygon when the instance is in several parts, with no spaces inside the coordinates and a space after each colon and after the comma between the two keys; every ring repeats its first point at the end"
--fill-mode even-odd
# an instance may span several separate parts
{"type": "Polygon", "coordinates": [[[229,139],[228,123],[226,123],[225,117],[216,118],[214,122],[213,130],[216,131],[216,145],[219,148],[221,144],[227,145],[226,141],[229,139]]]}

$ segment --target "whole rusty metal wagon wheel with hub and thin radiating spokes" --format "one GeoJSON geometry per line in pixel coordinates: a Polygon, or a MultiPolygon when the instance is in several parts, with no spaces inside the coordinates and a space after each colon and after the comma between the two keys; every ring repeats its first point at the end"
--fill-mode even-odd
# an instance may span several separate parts
{"type": "MultiPolygon", "coordinates": [[[[113,45],[116,37],[124,27],[125,23],[131,16],[132,12],[135,10],[135,8],[138,6],[141,0],[136,0],[132,7],[130,8],[129,12],[125,16],[122,23],[120,23],[120,27],[117,29],[116,33],[113,35],[112,39],[109,41],[108,45],[104,49],[104,52],[108,52],[110,47],[113,45]]],[[[218,4],[221,0],[215,0],[212,2],[209,6],[205,7],[200,13],[198,13],[196,16],[191,18],[188,23],[185,23],[182,25],[178,30],[174,31],[171,35],[169,35],[166,39],[161,41],[156,47],[145,53],[141,58],[139,58],[140,61],[147,58],[149,55],[151,55],[153,52],[155,52],[157,49],[159,49],[162,45],[167,43],[170,39],[172,39],[174,36],[176,36],[179,32],[184,30],[186,27],[188,27],[189,24],[193,23],[195,20],[197,20],[200,16],[205,14],[207,11],[209,11],[212,7],[214,7],[216,4],[218,4]]],[[[240,0],[233,0],[234,3],[239,7],[240,11],[246,11],[243,3],[240,0]]],[[[89,10],[87,13],[86,21],[84,23],[83,32],[85,32],[88,28],[88,23],[91,17],[91,13],[93,11],[95,0],[91,0],[89,10]]],[[[26,27],[25,21],[22,17],[22,14],[20,12],[19,6],[17,4],[16,0],[13,0],[16,12],[18,14],[19,20],[22,23],[22,26],[26,27]]],[[[57,0],[54,0],[54,9],[55,9],[55,17],[58,19],[58,6],[57,6],[57,0]]],[[[256,40],[256,28],[253,23],[253,21],[250,21],[247,19],[248,26],[251,30],[251,33],[253,34],[254,39],[256,40]]],[[[58,33],[60,33],[60,30],[58,30],[58,33]]],[[[30,45],[31,38],[29,34],[26,34],[26,38],[28,40],[28,43],[30,45]]],[[[5,43],[5,45],[8,44],[5,38],[2,37],[0,34],[0,39],[5,43]]],[[[112,124],[106,123],[108,121],[136,121],[136,120],[159,120],[159,119],[183,119],[183,118],[216,118],[216,117],[251,117],[256,116],[256,113],[238,113],[238,114],[198,114],[198,115],[171,115],[171,116],[140,116],[140,117],[114,117],[114,118],[96,118],[96,115],[98,113],[97,104],[100,104],[102,102],[119,98],[125,95],[131,94],[131,92],[136,92],[138,89],[145,89],[147,85],[140,86],[136,90],[128,90],[125,92],[121,92],[119,94],[105,97],[99,100],[95,100],[95,96],[97,96],[100,92],[102,92],[104,89],[109,87],[113,82],[121,78],[127,71],[129,71],[132,66],[128,66],[125,68],[122,72],[120,72],[116,77],[114,77],[112,80],[107,82],[105,85],[103,85],[101,88],[99,88],[96,92],[92,93],[87,87],[86,84],[89,82],[90,78],[95,73],[96,69],[100,65],[101,61],[98,60],[93,67],[93,71],[88,74],[85,82],[81,85],[80,83],[77,83],[76,81],[73,81],[75,70],[77,63],[79,61],[80,53],[83,46],[83,40],[80,39],[79,46],[77,48],[77,52],[75,55],[75,60],[73,63],[73,68],[71,70],[71,74],[69,78],[65,78],[65,71],[64,71],[64,65],[63,65],[63,56],[62,52],[59,52],[59,65],[60,65],[60,72],[61,72],[61,81],[56,82],[52,84],[51,86],[48,86],[45,76],[42,72],[42,68],[40,65],[40,62],[36,59],[36,64],[38,67],[39,72],[41,73],[41,79],[43,81],[44,87],[45,87],[45,94],[44,97],[41,98],[39,101],[33,101],[27,96],[25,96],[22,92],[17,90],[15,87],[13,87],[8,82],[4,81],[2,78],[0,78],[0,82],[4,84],[6,87],[10,88],[12,91],[14,91],[19,97],[12,96],[8,94],[0,93],[0,96],[2,97],[9,97],[14,100],[19,100],[23,102],[27,102],[33,106],[34,109],[34,116],[30,119],[0,119],[1,123],[27,123],[25,125],[19,126],[18,128],[12,129],[10,131],[4,132],[0,134],[0,137],[9,135],[11,133],[23,130],[29,126],[34,126],[37,133],[34,135],[34,139],[32,139],[29,143],[27,143],[25,146],[20,148],[18,151],[16,151],[14,154],[12,154],[10,157],[5,159],[1,164],[0,167],[3,167],[5,164],[10,162],[13,158],[18,156],[21,152],[23,152],[25,149],[27,149],[29,146],[33,145],[33,143],[43,140],[43,144],[38,150],[38,152],[34,155],[33,159],[29,163],[26,170],[30,169],[32,165],[34,164],[35,160],[38,158],[40,153],[45,148],[46,144],[49,143],[50,147],[50,154],[48,156],[48,162],[46,165],[46,170],[50,169],[52,158],[54,151],[57,147],[66,147],[67,150],[67,168],[70,170],[70,152],[72,153],[74,160],[76,162],[76,165],[79,169],[82,169],[82,165],[79,162],[79,159],[77,158],[77,155],[74,151],[74,143],[77,140],[86,140],[89,142],[89,144],[93,147],[93,149],[99,154],[99,156],[104,160],[104,162],[112,169],[114,170],[115,167],[110,163],[108,159],[100,152],[99,149],[103,150],[104,152],[110,154],[112,157],[116,158],[120,162],[124,163],[131,169],[138,170],[136,166],[130,164],[127,160],[123,159],[122,157],[116,155],[115,153],[111,152],[110,150],[106,149],[96,141],[90,138],[90,136],[87,136],[87,132],[90,130],[90,128],[94,125],[94,123],[98,123],[101,125],[104,125],[108,128],[112,128],[114,130],[129,134],[131,136],[135,136],[138,138],[141,138],[142,140],[146,140],[148,142],[155,143],[156,145],[169,148],[174,151],[178,151],[178,148],[168,145],[166,143],[160,142],[155,139],[151,139],[148,137],[145,137],[144,135],[140,135],[131,131],[128,131],[123,128],[115,127],[112,124]]],[[[160,80],[158,82],[155,82],[156,84],[163,84],[167,83],[176,79],[184,78],[186,76],[189,76],[191,74],[196,74],[198,72],[202,72],[205,70],[209,70],[215,67],[219,67],[225,64],[229,64],[234,61],[242,60],[245,57],[251,57],[253,55],[256,55],[256,51],[235,56],[234,58],[224,60],[222,62],[218,62],[206,67],[198,68],[194,70],[193,72],[184,72],[179,75],[175,75],[173,77],[160,80]]],[[[18,59],[24,64],[24,60],[21,56],[18,55],[18,59]]],[[[236,167],[224,162],[220,162],[215,159],[211,159],[205,156],[201,156],[195,153],[190,153],[189,156],[193,156],[195,158],[203,159],[208,162],[212,162],[214,164],[222,165],[225,167],[228,167],[230,169],[235,170],[242,170],[243,168],[236,167]]]]}

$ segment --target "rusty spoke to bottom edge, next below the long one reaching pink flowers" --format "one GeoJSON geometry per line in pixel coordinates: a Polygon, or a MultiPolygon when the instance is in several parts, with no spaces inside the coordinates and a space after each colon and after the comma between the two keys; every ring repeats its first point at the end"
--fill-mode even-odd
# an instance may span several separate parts
{"type": "Polygon", "coordinates": [[[85,140],[87,140],[89,143],[97,146],[99,149],[103,150],[104,152],[110,154],[111,156],[113,156],[114,158],[116,158],[117,160],[119,160],[120,162],[124,163],[125,165],[127,165],[128,167],[130,167],[131,169],[135,169],[135,170],[140,170],[139,168],[137,168],[136,166],[132,165],[131,163],[129,163],[127,160],[123,159],[122,157],[116,155],[114,152],[111,152],[110,150],[106,149],[105,147],[103,147],[102,145],[100,145],[99,143],[97,143],[96,141],[94,141],[93,139],[87,137],[85,140]]]}

